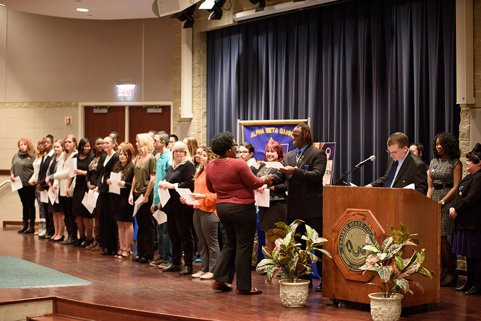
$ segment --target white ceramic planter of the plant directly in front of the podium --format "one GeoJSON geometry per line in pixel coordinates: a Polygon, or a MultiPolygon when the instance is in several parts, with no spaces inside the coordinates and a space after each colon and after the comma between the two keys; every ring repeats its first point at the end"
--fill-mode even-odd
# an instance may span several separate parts
{"type": "Polygon", "coordinates": [[[402,294],[384,297],[380,292],[369,294],[371,299],[371,317],[373,321],[397,321],[401,315],[402,294]]]}

